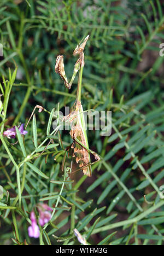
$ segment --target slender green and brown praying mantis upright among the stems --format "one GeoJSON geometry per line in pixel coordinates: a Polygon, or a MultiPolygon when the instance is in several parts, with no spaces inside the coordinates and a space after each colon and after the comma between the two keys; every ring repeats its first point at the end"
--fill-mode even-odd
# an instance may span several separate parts
{"type": "MultiPolygon", "coordinates": [[[[68,83],[68,79],[65,73],[65,67],[63,63],[63,55],[58,55],[55,64],[55,72],[60,75],[62,78],[66,88],[71,89],[73,80],[79,71],[78,77],[78,88],[77,88],[77,98],[75,100],[73,109],[69,115],[63,118],[63,121],[69,121],[72,124],[72,128],[70,131],[71,138],[73,139],[73,143],[71,148],[73,151],[73,157],[75,157],[75,161],[79,164],[83,173],[87,176],[91,177],[91,159],[90,153],[95,156],[95,160],[99,161],[100,157],[89,149],[89,143],[87,140],[87,133],[84,121],[84,113],[83,106],[81,104],[81,87],[82,87],[82,75],[84,68],[84,48],[87,40],[89,39],[89,35],[84,39],[84,41],[79,43],[75,50],[73,51],[73,55],[79,55],[79,58],[74,66],[73,75],[71,81],[68,83]],[[74,122],[74,123],[73,123],[74,122]]],[[[95,161],[95,162],[96,162],[95,161]]],[[[94,163],[95,163],[94,162],[94,163]]]]}

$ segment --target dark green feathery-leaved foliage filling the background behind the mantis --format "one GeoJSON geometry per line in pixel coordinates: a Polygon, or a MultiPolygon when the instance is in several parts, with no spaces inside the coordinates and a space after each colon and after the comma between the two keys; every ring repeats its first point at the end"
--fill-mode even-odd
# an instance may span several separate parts
{"type": "MultiPolygon", "coordinates": [[[[81,102],[84,110],[112,110],[113,124],[110,137],[100,136],[99,131],[88,132],[90,149],[100,154],[103,161],[93,165],[92,177],[81,182],[76,193],[78,205],[83,208],[88,202],[84,211],[76,206],[77,228],[89,218],[80,230],[81,234],[86,234],[101,217],[87,240],[92,245],[106,237],[106,245],[162,245],[163,206],[152,208],[149,215],[129,225],[119,223],[139,216],[160,202],[159,188],[164,177],[164,59],[159,55],[159,45],[164,43],[163,9],[160,0],[0,2],[0,42],[4,55],[0,62],[1,77],[4,75],[8,79],[8,68],[13,71],[15,66],[18,67],[5,127],[26,123],[36,104],[49,111],[57,107],[58,102],[61,109],[72,106],[77,78],[68,92],[54,71],[56,56],[64,55],[65,71],[71,78],[77,60],[72,55],[73,50],[84,36],[90,34],[85,48],[81,102]],[[146,200],[144,195],[147,195],[146,200]],[[93,212],[96,208],[97,211],[93,212]],[[114,228],[112,223],[115,223],[114,228]],[[109,237],[115,231],[113,237],[109,237]]],[[[49,114],[37,113],[36,118],[41,143],[46,136],[49,114]]],[[[32,123],[27,130],[25,145],[30,154],[33,150],[32,123]]],[[[65,146],[71,143],[69,132],[62,133],[62,140],[65,146]]],[[[11,150],[17,161],[23,159],[14,149],[11,150]]],[[[48,176],[61,180],[63,155],[54,161],[52,154],[33,159],[33,162],[48,176]]],[[[67,158],[67,166],[70,163],[71,158],[67,158]]],[[[2,145],[0,165],[1,185],[9,191],[10,197],[15,197],[16,174],[2,145]]],[[[75,168],[77,166],[73,166],[73,170],[75,168]]],[[[41,197],[60,191],[61,185],[53,184],[52,187],[41,177],[40,183],[38,177],[33,177],[28,170],[27,173],[22,193],[22,209],[26,214],[15,214],[20,242],[26,239],[29,244],[36,245],[39,240],[28,238],[26,218],[41,197]]],[[[82,171],[73,174],[74,184],[82,176],[82,171]]],[[[69,200],[72,195],[68,192],[69,189],[65,188],[64,196],[69,200]]],[[[55,199],[49,203],[53,206],[55,199]]],[[[6,218],[4,214],[1,211],[0,243],[11,245],[13,219],[11,212],[6,218]]],[[[58,230],[52,226],[46,229],[52,245],[58,244],[52,234],[69,235],[70,214],[69,211],[58,211],[54,218],[58,230]]],[[[47,243],[45,237],[43,241],[47,243]]],[[[78,243],[76,240],[67,242],[78,243]]]]}

